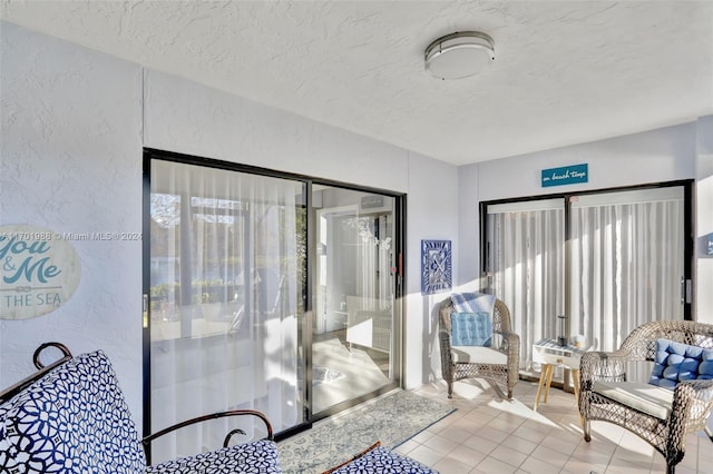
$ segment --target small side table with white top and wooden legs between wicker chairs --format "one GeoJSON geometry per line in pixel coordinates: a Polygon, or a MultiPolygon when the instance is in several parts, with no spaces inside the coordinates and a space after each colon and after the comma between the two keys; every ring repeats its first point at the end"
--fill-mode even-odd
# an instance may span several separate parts
{"type": "Polygon", "coordinates": [[[572,371],[572,384],[575,389],[575,399],[579,403],[579,359],[582,354],[587,349],[584,347],[575,347],[570,344],[560,346],[557,339],[545,338],[533,345],[533,362],[543,365],[543,371],[539,376],[539,384],[537,385],[537,395],[535,396],[535,406],[533,409],[537,412],[537,405],[539,405],[539,397],[545,388],[545,401],[547,403],[547,395],[549,395],[549,385],[553,382],[553,373],[555,366],[561,365],[572,371]]]}

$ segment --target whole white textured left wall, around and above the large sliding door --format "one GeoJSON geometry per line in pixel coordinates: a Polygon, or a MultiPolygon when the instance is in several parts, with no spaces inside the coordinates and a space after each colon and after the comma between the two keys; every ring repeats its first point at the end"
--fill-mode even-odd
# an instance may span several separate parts
{"type": "MultiPolygon", "coordinates": [[[[456,240],[456,167],[2,22],[0,225],[140,231],[144,146],[408,192],[406,384],[431,374],[421,239],[456,240]]],[[[456,241],[455,241],[456,244],[456,241]]],[[[0,320],[0,386],[29,375],[49,339],[102,348],[141,413],[141,246],[77,241],[71,299],[0,320]]]]}

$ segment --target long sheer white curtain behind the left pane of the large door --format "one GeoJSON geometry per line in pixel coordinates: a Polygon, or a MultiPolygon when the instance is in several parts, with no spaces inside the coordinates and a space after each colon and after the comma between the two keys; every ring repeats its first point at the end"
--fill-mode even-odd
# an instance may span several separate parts
{"type": "MultiPolygon", "coordinates": [[[[302,422],[300,196],[297,181],[152,161],[153,432],[233,408],[277,432],[302,422]]],[[[228,423],[165,436],[153,461],[218,447],[228,423]]]]}

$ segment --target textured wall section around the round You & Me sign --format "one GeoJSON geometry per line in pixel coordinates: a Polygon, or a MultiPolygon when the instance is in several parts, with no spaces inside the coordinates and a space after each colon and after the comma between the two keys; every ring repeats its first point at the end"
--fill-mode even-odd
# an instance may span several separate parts
{"type": "MultiPolygon", "coordinates": [[[[0,224],[57,233],[141,231],[141,70],[1,23],[0,224]]],[[[47,340],[102,348],[140,407],[140,241],[78,240],[81,279],[59,309],[0,320],[0,386],[47,340]]],[[[137,418],[138,419],[138,418],[137,418]]]]}

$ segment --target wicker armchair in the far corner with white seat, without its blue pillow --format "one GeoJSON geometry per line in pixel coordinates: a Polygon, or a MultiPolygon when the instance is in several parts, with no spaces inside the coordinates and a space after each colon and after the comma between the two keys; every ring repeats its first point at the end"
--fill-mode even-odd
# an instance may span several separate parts
{"type": "Polygon", "coordinates": [[[486,378],[507,386],[508,399],[518,381],[520,337],[512,333],[510,312],[499,299],[492,310],[492,347],[469,347],[461,350],[451,345],[451,319],[453,304],[450,298],[440,305],[439,340],[441,371],[448,383],[448,397],[453,396],[453,382],[463,378],[486,378]],[[476,350],[475,353],[472,350],[476,350]]]}

